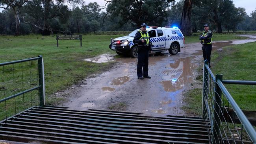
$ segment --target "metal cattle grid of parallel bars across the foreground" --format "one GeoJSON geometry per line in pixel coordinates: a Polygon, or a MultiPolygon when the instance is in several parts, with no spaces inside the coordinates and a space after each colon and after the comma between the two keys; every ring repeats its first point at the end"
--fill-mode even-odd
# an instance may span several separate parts
{"type": "Polygon", "coordinates": [[[203,120],[34,107],[0,127],[3,140],[80,144],[208,144],[203,120]],[[180,122],[179,122],[180,121],[180,122]],[[202,124],[202,126],[200,126],[202,124]]]}

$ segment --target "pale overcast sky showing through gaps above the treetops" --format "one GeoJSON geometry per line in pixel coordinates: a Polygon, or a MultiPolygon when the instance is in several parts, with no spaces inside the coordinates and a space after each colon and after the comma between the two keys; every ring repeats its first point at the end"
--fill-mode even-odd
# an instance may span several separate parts
{"type": "MultiPolygon", "coordinates": [[[[105,6],[106,4],[104,0],[85,0],[85,4],[89,4],[90,2],[97,2],[100,6],[105,6]]],[[[233,0],[233,3],[236,7],[244,7],[247,15],[250,15],[256,9],[256,0],[233,0]]]]}

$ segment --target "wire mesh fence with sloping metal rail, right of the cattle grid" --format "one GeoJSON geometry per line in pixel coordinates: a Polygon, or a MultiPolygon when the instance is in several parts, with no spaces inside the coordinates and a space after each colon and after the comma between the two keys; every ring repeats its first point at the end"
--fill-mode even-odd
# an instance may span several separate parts
{"type": "MultiPolygon", "coordinates": [[[[256,83],[256,82],[255,82],[256,83]]],[[[202,117],[212,144],[255,144],[256,132],[206,61],[203,76],[202,117]]]]}

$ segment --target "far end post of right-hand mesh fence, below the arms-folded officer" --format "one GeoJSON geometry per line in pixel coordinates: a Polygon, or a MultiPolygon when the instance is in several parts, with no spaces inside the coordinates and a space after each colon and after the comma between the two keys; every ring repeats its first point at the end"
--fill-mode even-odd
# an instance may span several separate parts
{"type": "Polygon", "coordinates": [[[208,74],[208,69],[206,68],[206,65],[208,65],[208,61],[205,60],[204,61],[204,67],[203,67],[203,91],[202,91],[202,118],[205,118],[205,115],[204,115],[204,112],[207,110],[207,109],[204,109],[205,106],[206,106],[206,101],[207,101],[207,98],[208,98],[208,80],[209,80],[209,74],[208,74]],[[207,83],[207,85],[206,85],[207,83]],[[206,93],[206,90],[207,90],[207,93],[206,93]]]}

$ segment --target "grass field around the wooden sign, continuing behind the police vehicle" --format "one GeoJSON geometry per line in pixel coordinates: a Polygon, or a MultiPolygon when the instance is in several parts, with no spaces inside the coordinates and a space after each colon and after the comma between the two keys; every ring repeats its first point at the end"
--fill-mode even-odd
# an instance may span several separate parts
{"type": "MultiPolygon", "coordinates": [[[[47,104],[57,104],[63,99],[50,97],[58,90],[65,89],[77,83],[90,74],[99,73],[109,68],[113,63],[91,63],[83,59],[96,55],[110,53],[108,45],[110,39],[124,36],[102,35],[111,33],[97,33],[97,35],[83,35],[82,47],[79,40],[59,40],[56,47],[56,36],[24,35],[0,36],[0,63],[37,57],[42,55],[45,63],[45,85],[47,104]]],[[[186,37],[186,43],[199,42],[200,33],[186,37]]],[[[216,40],[245,39],[236,35],[216,35],[216,40]]]]}

